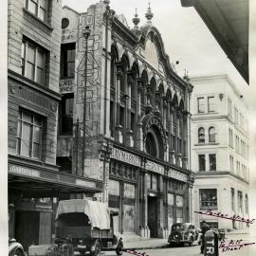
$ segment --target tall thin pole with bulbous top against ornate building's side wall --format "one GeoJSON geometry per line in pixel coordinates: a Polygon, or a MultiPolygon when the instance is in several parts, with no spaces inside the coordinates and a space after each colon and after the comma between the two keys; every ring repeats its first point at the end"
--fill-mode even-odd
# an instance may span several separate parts
{"type": "Polygon", "coordinates": [[[85,54],[84,54],[84,93],[83,93],[83,141],[82,141],[82,173],[84,174],[84,157],[85,157],[85,132],[86,132],[86,90],[87,90],[87,56],[88,56],[88,38],[91,29],[86,26],[82,29],[85,37],[85,54]]]}

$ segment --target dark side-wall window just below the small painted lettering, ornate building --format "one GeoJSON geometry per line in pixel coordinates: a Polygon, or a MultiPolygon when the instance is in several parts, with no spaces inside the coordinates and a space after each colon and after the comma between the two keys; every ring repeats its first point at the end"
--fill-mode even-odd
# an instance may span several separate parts
{"type": "Polygon", "coordinates": [[[65,94],[61,101],[60,134],[71,135],[73,132],[74,94],[65,94]]]}

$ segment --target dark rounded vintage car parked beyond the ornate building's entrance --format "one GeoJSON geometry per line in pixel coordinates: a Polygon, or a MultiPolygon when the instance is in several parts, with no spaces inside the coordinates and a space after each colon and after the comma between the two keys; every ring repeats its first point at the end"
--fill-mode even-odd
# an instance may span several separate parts
{"type": "Polygon", "coordinates": [[[172,226],[171,234],[168,238],[170,246],[175,244],[189,245],[198,239],[198,232],[192,223],[175,223],[172,226]]]}

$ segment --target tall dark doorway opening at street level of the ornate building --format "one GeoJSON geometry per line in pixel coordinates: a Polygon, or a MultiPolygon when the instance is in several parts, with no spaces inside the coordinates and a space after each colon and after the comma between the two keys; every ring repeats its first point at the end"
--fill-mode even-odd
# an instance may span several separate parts
{"type": "Polygon", "coordinates": [[[148,227],[150,236],[157,237],[157,197],[148,196],[148,227]]]}

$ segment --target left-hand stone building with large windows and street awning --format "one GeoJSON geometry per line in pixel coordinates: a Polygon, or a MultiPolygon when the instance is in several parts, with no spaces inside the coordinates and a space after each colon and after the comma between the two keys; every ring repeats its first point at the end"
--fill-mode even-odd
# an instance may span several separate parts
{"type": "Polygon", "coordinates": [[[26,250],[51,242],[57,198],[103,189],[56,165],[61,11],[62,1],[9,0],[9,237],[26,250]]]}

